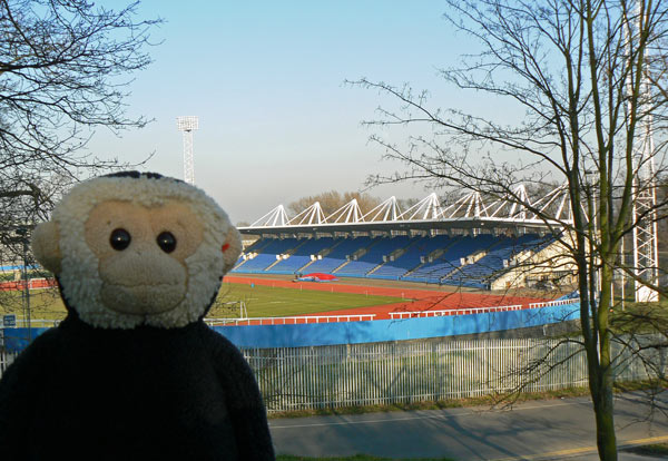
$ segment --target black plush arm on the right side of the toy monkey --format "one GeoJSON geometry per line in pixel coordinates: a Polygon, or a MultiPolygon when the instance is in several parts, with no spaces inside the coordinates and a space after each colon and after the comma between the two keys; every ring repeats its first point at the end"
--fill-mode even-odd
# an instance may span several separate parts
{"type": "Polygon", "coordinates": [[[240,460],[275,460],[266,410],[250,366],[242,353],[215,332],[215,367],[227,395],[240,460]]]}

